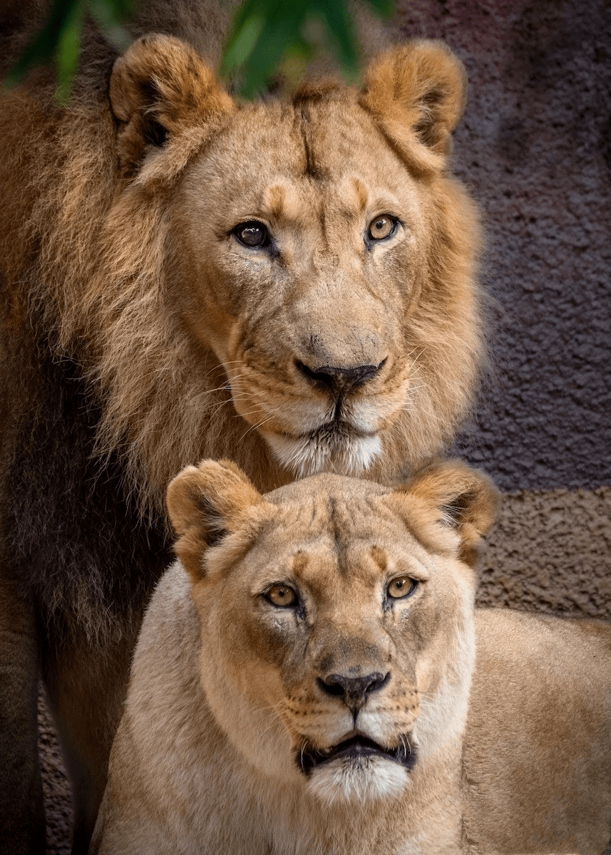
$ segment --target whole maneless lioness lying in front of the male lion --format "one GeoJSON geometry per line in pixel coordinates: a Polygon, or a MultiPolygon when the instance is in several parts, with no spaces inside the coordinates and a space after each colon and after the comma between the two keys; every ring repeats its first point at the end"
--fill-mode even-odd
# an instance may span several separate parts
{"type": "Polygon", "coordinates": [[[169,486],[94,855],[601,855],[611,626],[474,609],[489,479],[169,486]]]}

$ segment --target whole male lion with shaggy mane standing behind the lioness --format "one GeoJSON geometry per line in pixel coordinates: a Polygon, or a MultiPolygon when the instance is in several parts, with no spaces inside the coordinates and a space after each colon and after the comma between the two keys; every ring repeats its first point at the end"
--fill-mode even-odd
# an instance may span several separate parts
{"type": "Polygon", "coordinates": [[[169,480],[202,457],[261,490],[415,470],[453,438],[483,363],[448,48],[394,46],[362,85],[241,103],[212,71],[218,10],[144,7],[123,56],[90,35],[68,106],[45,72],[1,98],[10,852],[44,846],[39,675],[86,847],[170,560],[169,480]]]}

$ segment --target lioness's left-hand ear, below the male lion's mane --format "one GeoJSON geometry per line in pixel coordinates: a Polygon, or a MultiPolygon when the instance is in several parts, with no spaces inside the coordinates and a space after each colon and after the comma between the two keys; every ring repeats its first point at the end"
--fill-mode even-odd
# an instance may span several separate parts
{"type": "Polygon", "coordinates": [[[208,546],[235,531],[260,501],[261,494],[230,460],[203,460],[169,482],[169,521],[180,535],[174,550],[194,579],[203,574],[208,546]]]}

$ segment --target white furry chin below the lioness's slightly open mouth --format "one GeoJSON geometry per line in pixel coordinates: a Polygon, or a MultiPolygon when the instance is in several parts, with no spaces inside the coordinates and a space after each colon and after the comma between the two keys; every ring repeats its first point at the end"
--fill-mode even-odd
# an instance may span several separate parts
{"type": "Polygon", "coordinates": [[[405,766],[380,756],[338,758],[312,769],[311,793],[326,805],[396,799],[410,775],[405,766]]]}

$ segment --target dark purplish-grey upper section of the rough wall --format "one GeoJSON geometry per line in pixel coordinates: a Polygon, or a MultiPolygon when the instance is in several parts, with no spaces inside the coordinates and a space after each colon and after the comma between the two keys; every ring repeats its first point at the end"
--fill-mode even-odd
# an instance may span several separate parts
{"type": "Polygon", "coordinates": [[[611,6],[400,0],[400,18],[471,84],[455,165],[501,318],[470,457],[504,490],[611,484],[611,6]]]}

